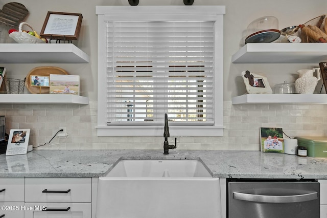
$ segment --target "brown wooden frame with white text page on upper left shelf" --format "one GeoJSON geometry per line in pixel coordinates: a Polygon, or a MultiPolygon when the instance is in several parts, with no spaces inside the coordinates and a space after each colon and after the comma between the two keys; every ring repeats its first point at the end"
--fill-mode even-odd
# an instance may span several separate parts
{"type": "Polygon", "coordinates": [[[48,11],[40,36],[60,40],[77,40],[83,16],[78,13],[48,11]]]}

